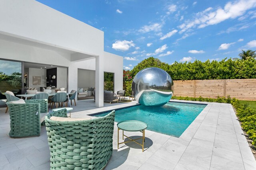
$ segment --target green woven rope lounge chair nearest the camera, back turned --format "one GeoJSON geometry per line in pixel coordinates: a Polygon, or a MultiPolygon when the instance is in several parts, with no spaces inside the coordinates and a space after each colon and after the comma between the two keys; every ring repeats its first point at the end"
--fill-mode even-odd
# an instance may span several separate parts
{"type": "Polygon", "coordinates": [[[102,170],[113,152],[115,111],[81,121],[53,121],[67,117],[66,109],[45,117],[51,170],[102,170]],[[62,112],[62,113],[60,113],[62,112]]]}

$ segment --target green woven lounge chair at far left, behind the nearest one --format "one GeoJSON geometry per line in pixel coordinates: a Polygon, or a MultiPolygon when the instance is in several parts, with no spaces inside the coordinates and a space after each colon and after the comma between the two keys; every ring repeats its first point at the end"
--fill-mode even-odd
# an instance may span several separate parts
{"type": "Polygon", "coordinates": [[[26,104],[6,103],[10,109],[10,137],[40,136],[40,124],[48,114],[48,100],[25,100],[25,102],[26,104]]]}

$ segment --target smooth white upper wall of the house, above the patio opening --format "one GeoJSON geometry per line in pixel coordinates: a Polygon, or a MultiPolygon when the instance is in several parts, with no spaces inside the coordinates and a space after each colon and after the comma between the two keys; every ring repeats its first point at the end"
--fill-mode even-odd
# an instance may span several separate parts
{"type": "Polygon", "coordinates": [[[104,32],[35,0],[2,0],[0,33],[102,55],[104,32]]]}

